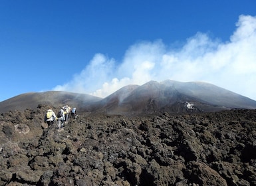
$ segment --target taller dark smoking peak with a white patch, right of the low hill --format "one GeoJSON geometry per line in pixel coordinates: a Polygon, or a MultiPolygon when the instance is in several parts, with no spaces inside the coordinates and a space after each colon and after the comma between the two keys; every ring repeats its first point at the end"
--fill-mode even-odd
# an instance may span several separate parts
{"type": "Polygon", "coordinates": [[[100,102],[102,107],[98,111],[105,110],[108,114],[213,112],[230,108],[256,108],[255,100],[213,84],[173,80],[150,81],[132,88],[126,86],[100,102]],[[124,95],[124,89],[130,91],[124,95]]]}

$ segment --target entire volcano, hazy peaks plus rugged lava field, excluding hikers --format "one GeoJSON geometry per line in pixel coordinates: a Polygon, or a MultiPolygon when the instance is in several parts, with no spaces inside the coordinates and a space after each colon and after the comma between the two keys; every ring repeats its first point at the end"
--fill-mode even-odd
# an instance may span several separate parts
{"type": "Polygon", "coordinates": [[[205,82],[0,102],[0,185],[256,185],[256,103],[205,82]],[[77,108],[64,127],[49,108],[77,108]]]}

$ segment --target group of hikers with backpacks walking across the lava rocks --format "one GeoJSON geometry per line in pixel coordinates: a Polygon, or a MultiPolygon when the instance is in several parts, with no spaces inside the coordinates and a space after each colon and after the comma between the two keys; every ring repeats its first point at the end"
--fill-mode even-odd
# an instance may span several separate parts
{"type": "Polygon", "coordinates": [[[45,114],[45,122],[50,126],[57,121],[57,128],[61,129],[64,127],[64,124],[67,124],[70,118],[75,119],[76,117],[76,108],[74,107],[71,109],[70,106],[66,105],[59,110],[57,115],[52,109],[47,110],[47,113],[45,114]]]}

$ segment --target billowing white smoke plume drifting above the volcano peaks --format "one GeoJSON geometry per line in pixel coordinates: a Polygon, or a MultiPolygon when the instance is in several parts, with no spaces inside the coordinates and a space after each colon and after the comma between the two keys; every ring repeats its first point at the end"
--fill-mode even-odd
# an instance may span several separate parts
{"type": "Polygon", "coordinates": [[[128,84],[172,79],[210,82],[256,100],[256,17],[241,15],[236,26],[225,43],[197,33],[179,49],[162,41],[136,43],[119,64],[95,54],[80,74],[55,90],[106,97],[128,84]]]}

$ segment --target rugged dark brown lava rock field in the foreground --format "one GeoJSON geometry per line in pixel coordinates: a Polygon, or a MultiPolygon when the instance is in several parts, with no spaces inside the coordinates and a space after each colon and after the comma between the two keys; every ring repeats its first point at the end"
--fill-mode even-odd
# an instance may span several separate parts
{"type": "Polygon", "coordinates": [[[256,110],[79,113],[58,131],[47,108],[1,114],[0,185],[256,185],[256,110]]]}

